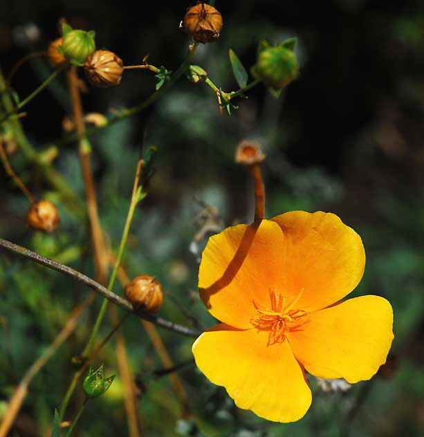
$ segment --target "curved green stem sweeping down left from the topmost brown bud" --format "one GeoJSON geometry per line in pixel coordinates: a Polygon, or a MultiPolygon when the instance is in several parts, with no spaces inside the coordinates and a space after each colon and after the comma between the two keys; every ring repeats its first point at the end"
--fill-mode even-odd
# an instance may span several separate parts
{"type": "MultiPolygon", "coordinates": [[[[121,113],[115,115],[115,117],[110,118],[107,124],[93,127],[91,129],[86,129],[85,136],[91,136],[93,135],[93,133],[97,133],[98,131],[101,131],[102,129],[111,126],[111,124],[115,124],[117,122],[120,122],[121,120],[125,120],[125,118],[131,117],[131,115],[139,113],[143,109],[146,109],[147,106],[150,106],[152,103],[156,102],[156,100],[158,100],[158,98],[161,97],[172,85],[174,85],[176,80],[178,80],[185,73],[187,68],[190,66],[190,61],[192,59],[194,52],[196,51],[196,48],[197,48],[196,44],[192,48],[190,48],[181,66],[178,67],[175,73],[171,75],[171,77],[169,77],[169,80],[166,81],[165,84],[163,84],[163,86],[160,87],[160,89],[154,91],[154,93],[151,93],[151,95],[149,95],[149,97],[147,97],[146,100],[143,100],[141,103],[137,104],[136,106],[133,106],[132,108],[129,109],[124,109],[123,111],[121,111],[121,113]]],[[[79,140],[80,138],[82,138],[82,135],[80,135],[79,133],[71,133],[68,136],[66,136],[64,139],[55,141],[55,145],[62,145],[65,144],[66,142],[79,140]]]]}

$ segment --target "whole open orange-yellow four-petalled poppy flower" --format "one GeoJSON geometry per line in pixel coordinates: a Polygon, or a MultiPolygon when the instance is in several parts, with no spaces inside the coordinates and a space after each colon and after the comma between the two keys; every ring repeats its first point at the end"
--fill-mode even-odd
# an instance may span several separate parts
{"type": "Polygon", "coordinates": [[[199,270],[201,298],[223,322],[193,344],[199,369],[242,409],[276,422],[311,405],[304,369],[369,380],[386,360],[386,299],[340,301],[364,272],[360,236],[335,214],[295,211],[212,236],[199,270]]]}

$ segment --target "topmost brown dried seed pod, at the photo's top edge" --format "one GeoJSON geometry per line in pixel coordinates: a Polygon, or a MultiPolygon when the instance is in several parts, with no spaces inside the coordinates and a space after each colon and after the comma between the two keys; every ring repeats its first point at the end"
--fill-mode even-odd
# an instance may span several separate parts
{"type": "Polygon", "coordinates": [[[198,3],[189,8],[180,28],[192,35],[194,41],[205,44],[219,38],[222,28],[221,13],[207,3],[198,3]]]}

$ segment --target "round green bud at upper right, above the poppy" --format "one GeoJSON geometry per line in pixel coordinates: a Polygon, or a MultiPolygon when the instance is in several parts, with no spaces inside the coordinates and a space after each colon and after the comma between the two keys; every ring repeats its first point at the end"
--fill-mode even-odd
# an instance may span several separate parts
{"type": "Polygon", "coordinates": [[[294,48],[294,39],[284,41],[277,47],[270,47],[266,41],[262,41],[252,74],[263,80],[274,91],[284,88],[299,75],[299,64],[293,52],[294,48]]]}

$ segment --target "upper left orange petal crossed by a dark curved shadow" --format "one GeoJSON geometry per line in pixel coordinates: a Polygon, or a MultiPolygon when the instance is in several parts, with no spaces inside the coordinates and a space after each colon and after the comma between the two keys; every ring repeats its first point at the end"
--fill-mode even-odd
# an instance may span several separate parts
{"type": "Polygon", "coordinates": [[[211,236],[202,254],[199,292],[210,313],[237,328],[251,328],[253,300],[270,306],[279,288],[284,236],[273,221],[228,227],[211,236]]]}

